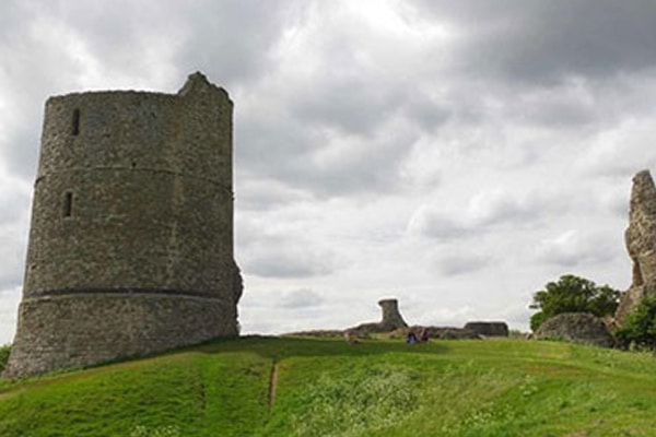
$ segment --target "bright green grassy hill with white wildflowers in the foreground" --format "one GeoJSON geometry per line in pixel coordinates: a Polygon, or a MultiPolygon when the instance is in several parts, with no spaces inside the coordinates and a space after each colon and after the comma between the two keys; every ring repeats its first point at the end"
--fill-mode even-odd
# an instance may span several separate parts
{"type": "Polygon", "coordinates": [[[655,436],[656,358],[244,338],[0,382],[0,436],[655,436]]]}

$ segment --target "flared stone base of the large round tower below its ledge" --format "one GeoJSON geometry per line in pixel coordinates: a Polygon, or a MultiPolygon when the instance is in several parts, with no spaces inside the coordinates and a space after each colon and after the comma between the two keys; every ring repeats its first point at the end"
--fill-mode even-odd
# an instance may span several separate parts
{"type": "Polygon", "coordinates": [[[5,378],[84,367],[238,335],[234,303],[110,291],[24,299],[5,378]]]}

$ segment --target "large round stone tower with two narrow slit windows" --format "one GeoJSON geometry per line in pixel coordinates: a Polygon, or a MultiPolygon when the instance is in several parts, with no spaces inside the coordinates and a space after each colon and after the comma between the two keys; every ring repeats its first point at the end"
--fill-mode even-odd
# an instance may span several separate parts
{"type": "Polygon", "coordinates": [[[238,334],[232,111],[201,73],[48,99],[5,376],[238,334]]]}

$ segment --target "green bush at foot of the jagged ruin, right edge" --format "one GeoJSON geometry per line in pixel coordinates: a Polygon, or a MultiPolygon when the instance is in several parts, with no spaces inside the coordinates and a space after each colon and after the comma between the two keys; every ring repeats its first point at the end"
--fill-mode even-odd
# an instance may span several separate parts
{"type": "Polygon", "coordinates": [[[614,335],[622,349],[656,351],[656,297],[642,299],[614,335]]]}

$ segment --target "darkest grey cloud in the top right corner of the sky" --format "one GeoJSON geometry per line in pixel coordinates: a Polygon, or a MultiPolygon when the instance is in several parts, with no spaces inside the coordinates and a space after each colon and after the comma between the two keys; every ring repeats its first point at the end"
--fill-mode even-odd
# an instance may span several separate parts
{"type": "Polygon", "coordinates": [[[422,12],[467,28],[458,70],[525,83],[570,74],[616,75],[656,62],[656,4],[595,1],[418,1],[422,12]]]}

